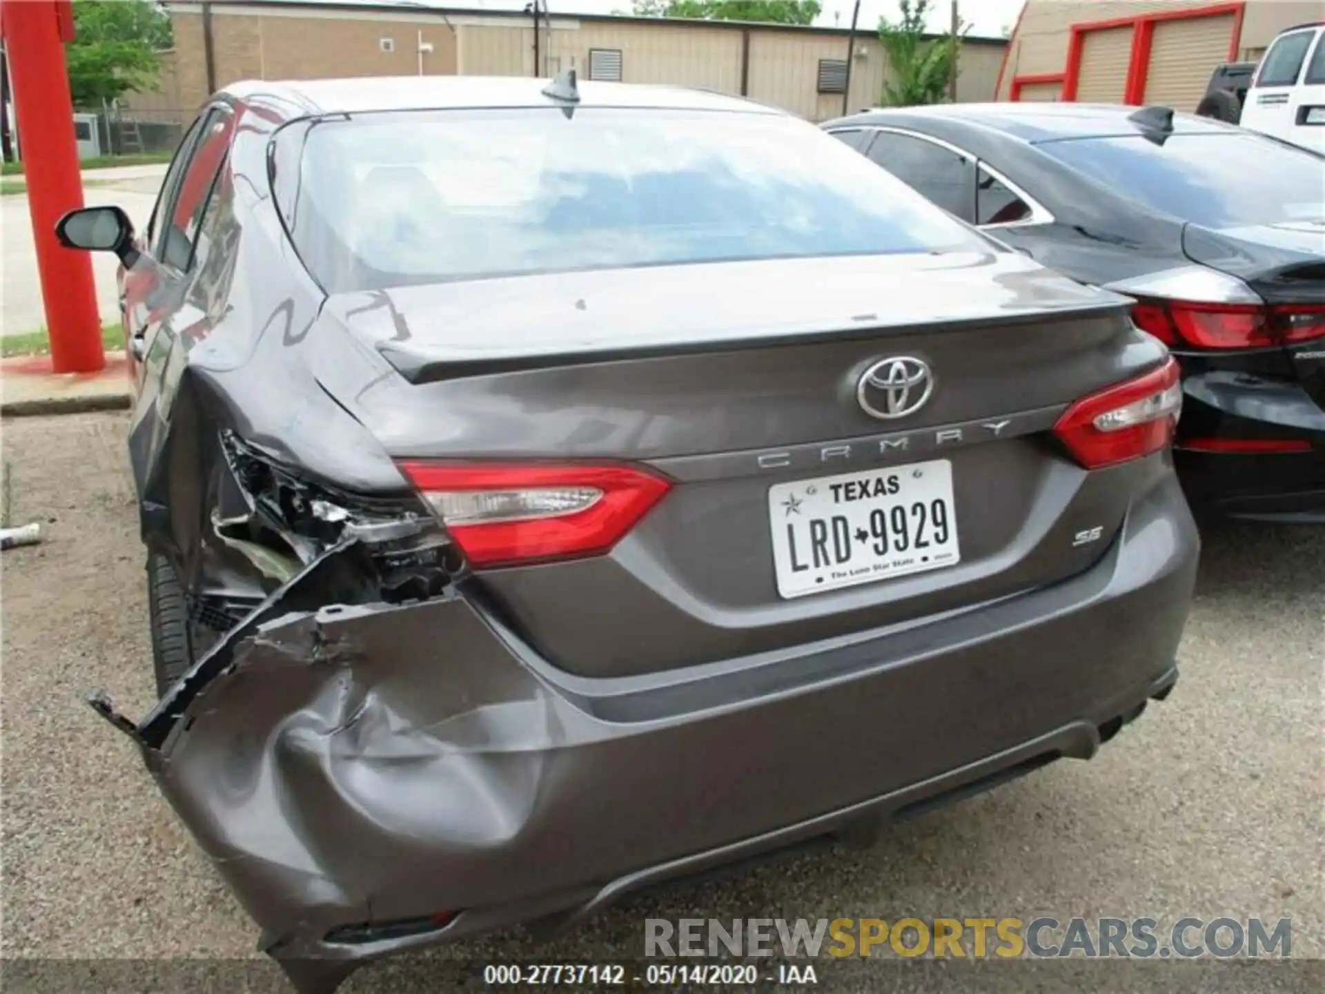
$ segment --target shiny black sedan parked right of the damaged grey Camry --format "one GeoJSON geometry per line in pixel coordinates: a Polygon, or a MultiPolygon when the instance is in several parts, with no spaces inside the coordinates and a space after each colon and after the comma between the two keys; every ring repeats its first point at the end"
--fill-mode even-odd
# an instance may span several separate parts
{"type": "Polygon", "coordinates": [[[1199,510],[1325,522],[1325,158],[1167,107],[966,103],[824,127],[1081,282],[1183,370],[1199,510]]]}

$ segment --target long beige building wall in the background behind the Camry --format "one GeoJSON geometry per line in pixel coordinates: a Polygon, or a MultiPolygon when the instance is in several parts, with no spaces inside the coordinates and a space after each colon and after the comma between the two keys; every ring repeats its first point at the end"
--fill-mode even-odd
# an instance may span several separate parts
{"type": "MultiPolygon", "coordinates": [[[[175,25],[178,103],[191,114],[208,97],[201,5],[171,3],[175,25]]],[[[383,13],[212,4],[216,85],[237,80],[302,80],[354,76],[413,76],[419,32],[433,46],[424,73],[534,76],[534,33],[526,17],[383,13]],[[383,49],[383,40],[391,50],[383,49]]],[[[843,33],[731,24],[697,24],[554,17],[539,32],[543,76],[575,68],[588,73],[591,49],[621,53],[621,80],[698,86],[739,95],[742,52],[749,44],[746,95],[811,121],[843,113],[840,93],[818,93],[820,60],[847,57],[843,33]],[[746,41],[749,38],[749,41],[746,41]]],[[[1004,46],[967,42],[958,64],[959,101],[991,99],[1004,46]]],[[[848,111],[877,106],[886,73],[872,30],[856,38],[848,111]]]]}

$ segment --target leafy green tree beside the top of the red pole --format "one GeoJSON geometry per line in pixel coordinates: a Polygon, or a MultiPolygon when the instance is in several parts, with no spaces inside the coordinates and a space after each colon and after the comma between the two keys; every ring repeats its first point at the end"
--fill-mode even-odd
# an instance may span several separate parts
{"type": "Polygon", "coordinates": [[[74,0],[74,40],[65,45],[74,106],[101,109],[151,86],[171,44],[170,17],[151,0],[74,0]]]}

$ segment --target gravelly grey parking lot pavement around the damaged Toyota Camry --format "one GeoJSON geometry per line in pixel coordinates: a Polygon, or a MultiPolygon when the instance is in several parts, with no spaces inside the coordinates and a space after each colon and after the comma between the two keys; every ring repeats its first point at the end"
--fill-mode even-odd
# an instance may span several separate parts
{"type": "MultiPolygon", "coordinates": [[[[253,957],[253,928],[129,740],[81,700],[102,687],[134,716],[152,702],[125,427],[123,415],[4,423],[13,521],[41,521],[48,538],[3,559],[0,948],[7,958],[253,957]]],[[[1088,763],[1059,762],[890,827],[868,850],[831,848],[636,897],[553,942],[507,934],[388,961],[355,974],[343,990],[441,990],[443,977],[473,986],[476,960],[637,957],[647,917],[1150,914],[1171,924],[1187,914],[1288,916],[1293,958],[1321,957],[1322,563],[1325,530],[1211,531],[1177,690],[1088,763]]],[[[954,979],[933,966],[945,964],[905,974],[843,965],[837,983],[831,973],[823,982],[877,990],[885,977],[912,989],[954,979]]],[[[1032,973],[1041,965],[1011,965],[1020,973],[1000,966],[996,977],[986,974],[986,987],[1081,983],[1063,971],[1032,973]]],[[[1300,973],[1259,974],[1248,987],[1246,971],[1146,966],[1125,983],[1118,973],[1085,982],[1308,989],[1300,973]]],[[[245,969],[250,989],[280,989],[270,967],[245,969]]],[[[102,991],[107,973],[87,973],[86,985],[66,977],[52,989],[60,987],[102,991]]]]}

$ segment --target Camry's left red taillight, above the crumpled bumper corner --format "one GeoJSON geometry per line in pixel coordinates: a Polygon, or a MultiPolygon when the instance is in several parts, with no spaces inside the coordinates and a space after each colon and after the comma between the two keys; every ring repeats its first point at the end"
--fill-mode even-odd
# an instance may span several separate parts
{"type": "Polygon", "coordinates": [[[400,469],[480,567],[606,553],[670,488],[621,465],[407,460],[400,469]]]}

